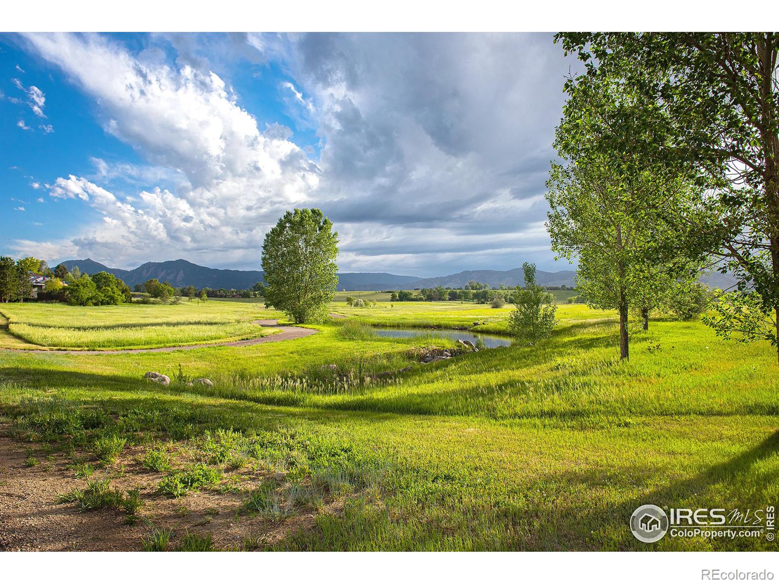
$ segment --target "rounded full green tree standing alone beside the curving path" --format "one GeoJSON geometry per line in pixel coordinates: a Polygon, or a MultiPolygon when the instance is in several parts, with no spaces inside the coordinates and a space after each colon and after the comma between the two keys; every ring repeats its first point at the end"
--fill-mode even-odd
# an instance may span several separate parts
{"type": "Polygon", "coordinates": [[[319,209],[287,211],[265,236],[266,304],[294,322],[317,322],[327,314],[338,278],[338,234],[319,209]]]}

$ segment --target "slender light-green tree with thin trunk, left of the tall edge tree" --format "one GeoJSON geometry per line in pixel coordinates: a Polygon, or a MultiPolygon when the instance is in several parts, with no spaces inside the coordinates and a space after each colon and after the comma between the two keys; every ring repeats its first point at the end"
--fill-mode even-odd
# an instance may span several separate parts
{"type": "Polygon", "coordinates": [[[564,163],[552,164],[548,182],[552,249],[578,260],[577,288],[590,306],[619,311],[627,359],[629,309],[643,309],[648,327],[657,283],[695,276],[706,246],[692,223],[717,223],[718,209],[698,200],[691,167],[631,146],[668,142],[659,121],[647,123],[664,118],[651,100],[608,76],[569,79],[566,91],[555,137],[564,163]]]}

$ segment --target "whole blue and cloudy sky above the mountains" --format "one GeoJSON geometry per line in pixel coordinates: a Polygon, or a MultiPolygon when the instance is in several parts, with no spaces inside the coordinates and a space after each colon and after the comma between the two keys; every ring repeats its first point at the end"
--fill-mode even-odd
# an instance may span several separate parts
{"type": "Polygon", "coordinates": [[[319,207],[342,272],[569,269],[551,34],[0,35],[0,253],[261,269],[319,207]]]}

